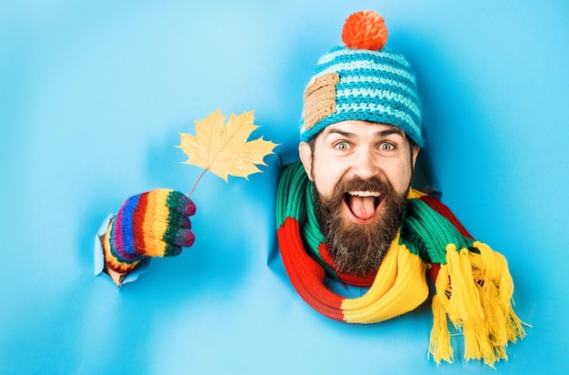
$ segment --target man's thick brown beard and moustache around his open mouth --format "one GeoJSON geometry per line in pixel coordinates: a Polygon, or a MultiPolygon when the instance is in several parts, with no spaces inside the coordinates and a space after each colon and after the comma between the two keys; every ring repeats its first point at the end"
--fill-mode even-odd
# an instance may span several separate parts
{"type": "Polygon", "coordinates": [[[314,191],[316,214],[336,269],[357,276],[377,271],[401,225],[407,194],[398,195],[377,177],[341,181],[330,197],[321,196],[315,187],[314,191]],[[354,190],[381,193],[383,206],[370,223],[358,224],[346,217],[344,199],[354,190]]]}

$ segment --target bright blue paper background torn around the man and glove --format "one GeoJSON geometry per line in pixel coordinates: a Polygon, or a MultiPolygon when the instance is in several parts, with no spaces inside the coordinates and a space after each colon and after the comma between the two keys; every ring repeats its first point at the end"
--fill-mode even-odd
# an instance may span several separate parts
{"type": "Polygon", "coordinates": [[[275,248],[281,160],[344,18],[381,12],[424,100],[424,175],[508,258],[533,325],[500,373],[564,373],[569,3],[8,1],[0,4],[0,373],[494,373],[427,359],[428,306],[371,326],[298,298],[275,248]],[[107,214],[201,170],[178,132],[255,109],[269,167],[193,198],[197,239],[116,289],[93,276],[107,214]]]}

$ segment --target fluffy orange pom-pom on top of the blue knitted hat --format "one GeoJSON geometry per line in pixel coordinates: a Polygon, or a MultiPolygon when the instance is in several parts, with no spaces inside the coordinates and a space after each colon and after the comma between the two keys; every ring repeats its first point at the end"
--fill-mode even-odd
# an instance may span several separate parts
{"type": "Polygon", "coordinates": [[[384,17],[373,10],[350,15],[345,19],[342,40],[348,48],[379,51],[387,42],[384,17]]]}

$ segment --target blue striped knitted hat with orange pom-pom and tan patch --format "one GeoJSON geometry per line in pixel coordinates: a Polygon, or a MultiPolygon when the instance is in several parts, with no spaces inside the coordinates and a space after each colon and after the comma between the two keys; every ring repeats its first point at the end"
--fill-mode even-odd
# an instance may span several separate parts
{"type": "Polygon", "coordinates": [[[350,15],[342,40],[345,46],[320,58],[306,86],[301,141],[334,123],[364,120],[399,127],[423,147],[414,72],[404,56],[384,47],[384,18],[374,11],[350,15]]]}

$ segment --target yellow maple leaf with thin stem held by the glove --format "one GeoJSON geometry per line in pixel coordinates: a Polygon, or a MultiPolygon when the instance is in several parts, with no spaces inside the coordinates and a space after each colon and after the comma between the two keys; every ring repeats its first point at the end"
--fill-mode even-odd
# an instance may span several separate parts
{"type": "Polygon", "coordinates": [[[180,146],[177,147],[182,148],[188,157],[184,163],[203,167],[204,173],[209,170],[225,182],[228,182],[229,175],[247,178],[261,172],[256,165],[266,166],[263,159],[273,154],[278,145],[263,137],[248,141],[258,127],[253,123],[253,113],[245,111],[235,115],[232,112],[225,124],[227,117],[218,109],[203,120],[195,120],[195,136],[180,133],[180,146]]]}

